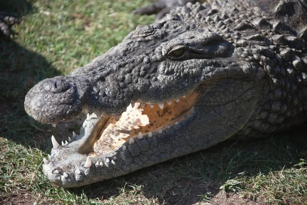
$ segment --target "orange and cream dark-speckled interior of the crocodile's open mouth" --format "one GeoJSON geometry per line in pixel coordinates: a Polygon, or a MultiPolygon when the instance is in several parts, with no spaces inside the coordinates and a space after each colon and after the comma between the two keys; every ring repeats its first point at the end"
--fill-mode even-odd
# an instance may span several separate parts
{"type": "Polygon", "coordinates": [[[140,132],[143,135],[155,133],[177,124],[192,113],[197,96],[196,92],[190,92],[177,100],[161,103],[160,106],[135,103],[132,107],[130,104],[118,121],[111,116],[105,122],[90,155],[112,151],[130,138],[138,136],[140,132]]]}

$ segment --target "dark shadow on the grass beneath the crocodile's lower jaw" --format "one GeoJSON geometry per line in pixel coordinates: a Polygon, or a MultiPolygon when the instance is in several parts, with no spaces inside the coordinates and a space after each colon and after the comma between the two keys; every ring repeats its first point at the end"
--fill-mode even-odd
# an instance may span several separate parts
{"type": "Polygon", "coordinates": [[[120,197],[125,190],[126,199],[129,198],[128,191],[161,204],[194,204],[215,196],[221,186],[225,191],[235,192],[248,189],[245,187],[248,179],[252,180],[260,173],[269,176],[271,172],[299,168],[296,165],[300,159],[307,158],[306,125],[266,138],[228,140],[123,177],[68,191],[77,195],[84,193],[87,198],[107,199],[120,197]],[[233,179],[231,183],[227,183],[229,179],[233,179]]]}

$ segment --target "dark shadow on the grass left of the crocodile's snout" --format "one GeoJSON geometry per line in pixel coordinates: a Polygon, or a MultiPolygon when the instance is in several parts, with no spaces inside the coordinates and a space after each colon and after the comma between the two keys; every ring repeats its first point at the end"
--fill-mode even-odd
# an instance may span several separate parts
{"type": "MultiPolygon", "coordinates": [[[[29,1],[2,1],[0,4],[0,11],[16,17],[35,12],[33,10],[29,1]]],[[[40,148],[33,138],[36,130],[43,126],[36,124],[25,112],[25,95],[38,81],[60,72],[45,57],[21,47],[13,39],[0,36],[0,136],[40,148]]]]}

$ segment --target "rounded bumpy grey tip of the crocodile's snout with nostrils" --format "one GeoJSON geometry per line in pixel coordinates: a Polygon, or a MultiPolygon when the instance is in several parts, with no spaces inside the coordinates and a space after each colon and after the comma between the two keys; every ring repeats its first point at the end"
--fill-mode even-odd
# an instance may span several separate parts
{"type": "Polygon", "coordinates": [[[74,119],[82,112],[77,87],[72,80],[63,76],[42,80],[26,95],[25,110],[45,124],[74,119]]]}

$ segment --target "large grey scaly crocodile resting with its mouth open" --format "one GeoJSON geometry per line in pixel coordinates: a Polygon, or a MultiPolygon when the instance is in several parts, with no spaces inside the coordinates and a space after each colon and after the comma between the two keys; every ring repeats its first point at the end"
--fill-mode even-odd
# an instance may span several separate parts
{"type": "Polygon", "coordinates": [[[188,3],[138,26],[67,76],[40,81],[26,112],[43,124],[86,111],[43,158],[58,186],[112,179],[226,139],[271,135],[307,111],[306,3],[188,3]]]}

